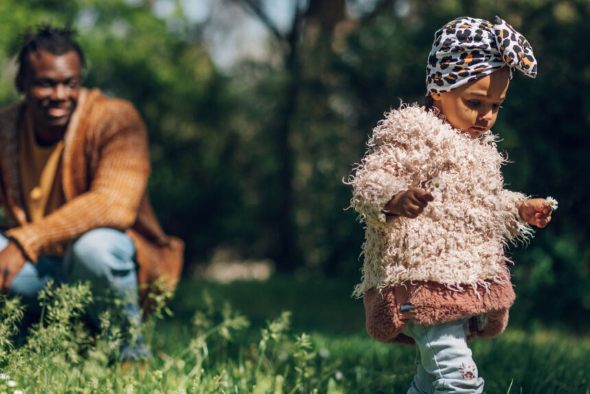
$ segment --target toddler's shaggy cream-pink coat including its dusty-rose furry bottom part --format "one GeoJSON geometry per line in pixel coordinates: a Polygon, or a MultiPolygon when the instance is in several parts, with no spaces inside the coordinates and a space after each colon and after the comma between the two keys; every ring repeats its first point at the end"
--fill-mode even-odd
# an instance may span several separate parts
{"type": "Polygon", "coordinates": [[[453,129],[443,116],[415,104],[386,114],[349,177],[351,206],[366,224],[362,296],[366,328],[377,341],[412,344],[401,334],[409,319],[432,325],[471,318],[469,340],[500,334],[515,293],[506,241],[526,242],[519,220],[526,195],[504,189],[506,159],[497,137],[479,139],[453,129]],[[416,219],[386,215],[386,203],[410,187],[445,188],[416,219]],[[404,304],[412,304],[401,312],[404,304]],[[477,323],[477,317],[481,319],[477,323]]]}

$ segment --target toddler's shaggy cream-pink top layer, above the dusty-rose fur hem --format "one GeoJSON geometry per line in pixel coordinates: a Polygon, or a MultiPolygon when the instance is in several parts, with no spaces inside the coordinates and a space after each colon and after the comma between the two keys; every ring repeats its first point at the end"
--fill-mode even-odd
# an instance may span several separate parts
{"type": "Polygon", "coordinates": [[[354,294],[404,282],[432,281],[460,291],[505,283],[505,247],[532,236],[519,220],[522,193],[504,188],[506,158],[497,136],[472,139],[443,116],[402,105],[386,114],[368,140],[368,149],[348,183],[351,206],[366,224],[362,283],[354,294]],[[445,188],[415,219],[386,215],[384,207],[408,188],[429,188],[434,178],[445,188]]]}

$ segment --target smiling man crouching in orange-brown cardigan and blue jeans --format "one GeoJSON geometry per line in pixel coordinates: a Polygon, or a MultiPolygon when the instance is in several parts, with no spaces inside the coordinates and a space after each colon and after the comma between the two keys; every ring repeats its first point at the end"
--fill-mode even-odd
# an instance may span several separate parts
{"type": "MultiPolygon", "coordinates": [[[[69,29],[27,33],[18,62],[25,99],[0,110],[0,291],[27,303],[50,279],[89,280],[138,324],[140,288],[174,288],[183,251],[147,200],[145,125],[131,103],[82,88],[69,29]]],[[[146,356],[141,339],[128,345],[122,358],[146,356]]]]}

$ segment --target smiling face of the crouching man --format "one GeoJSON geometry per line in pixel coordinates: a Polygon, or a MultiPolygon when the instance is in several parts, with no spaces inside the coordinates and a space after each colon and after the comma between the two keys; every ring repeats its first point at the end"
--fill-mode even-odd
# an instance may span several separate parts
{"type": "Polygon", "coordinates": [[[19,84],[38,134],[49,139],[63,135],[78,103],[81,80],[82,62],[75,51],[31,53],[19,84]]]}

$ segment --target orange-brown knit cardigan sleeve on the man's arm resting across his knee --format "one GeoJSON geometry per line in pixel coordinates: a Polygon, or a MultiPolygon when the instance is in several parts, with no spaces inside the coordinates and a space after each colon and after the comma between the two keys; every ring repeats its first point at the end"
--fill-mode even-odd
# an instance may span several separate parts
{"type": "Polygon", "coordinates": [[[143,121],[131,104],[116,103],[117,108],[108,108],[99,116],[99,157],[88,191],[41,221],[6,232],[33,262],[40,250],[52,243],[71,241],[97,227],[124,231],[137,219],[150,173],[147,136],[143,121]],[[113,121],[113,116],[117,121],[113,121]]]}

